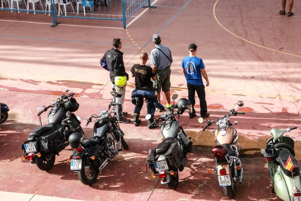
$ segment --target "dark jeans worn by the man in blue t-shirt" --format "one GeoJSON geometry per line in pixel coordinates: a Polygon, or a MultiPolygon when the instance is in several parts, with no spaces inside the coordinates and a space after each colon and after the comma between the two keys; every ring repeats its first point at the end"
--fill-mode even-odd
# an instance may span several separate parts
{"type": "Polygon", "coordinates": [[[187,83],[187,89],[188,89],[188,100],[190,101],[192,105],[192,113],[189,114],[189,116],[193,117],[193,115],[196,113],[194,110],[195,105],[195,92],[197,92],[197,96],[200,99],[200,107],[201,107],[201,116],[206,115],[207,113],[207,103],[205,100],[205,86],[204,85],[194,85],[194,84],[188,84],[187,83]]]}

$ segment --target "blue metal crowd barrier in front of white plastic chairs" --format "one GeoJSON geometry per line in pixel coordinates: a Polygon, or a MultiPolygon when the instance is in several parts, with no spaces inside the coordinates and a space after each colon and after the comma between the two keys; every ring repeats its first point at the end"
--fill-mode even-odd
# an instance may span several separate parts
{"type": "Polygon", "coordinates": [[[42,6],[43,0],[26,0],[27,5],[32,4],[33,10],[27,9],[25,0],[1,0],[2,7],[0,10],[8,11],[26,11],[37,13],[52,14],[53,24],[51,27],[59,24],[57,17],[72,17],[84,19],[99,19],[99,20],[119,20],[123,21],[123,28],[126,28],[126,20],[129,19],[139,8],[155,8],[151,6],[150,0],[44,0],[45,7],[51,6],[51,11],[44,11],[42,6]],[[10,2],[17,4],[18,9],[13,8],[10,2]],[[19,2],[22,2],[22,8],[19,8],[19,2]],[[26,9],[24,8],[24,4],[26,9]],[[34,3],[33,3],[34,2],[34,3]],[[49,4],[50,2],[50,4],[49,4]],[[73,2],[73,3],[72,3],[73,2]],[[148,2],[148,5],[144,5],[148,2]],[[4,7],[4,4],[8,6],[4,7]],[[39,9],[35,9],[35,4],[39,3],[39,9]],[[58,11],[56,12],[56,5],[58,11]],[[73,7],[74,6],[74,7],[73,7]],[[42,10],[41,10],[42,8],[42,10]]]}

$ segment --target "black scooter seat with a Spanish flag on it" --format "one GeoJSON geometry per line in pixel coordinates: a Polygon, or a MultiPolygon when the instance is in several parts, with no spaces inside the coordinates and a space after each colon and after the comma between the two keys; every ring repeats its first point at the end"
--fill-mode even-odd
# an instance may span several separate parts
{"type": "MultiPolygon", "coordinates": [[[[295,159],[295,157],[290,153],[289,150],[287,149],[281,149],[280,150],[280,153],[279,153],[279,162],[280,162],[280,167],[281,167],[281,170],[283,171],[283,173],[288,176],[288,177],[292,177],[292,172],[284,167],[287,167],[289,168],[290,167],[290,164],[289,166],[285,166],[285,164],[288,162],[288,157],[290,156],[290,159],[292,160],[293,162],[293,176],[298,176],[300,174],[300,171],[299,171],[299,166],[298,166],[298,162],[297,160],[295,159]]],[[[289,162],[288,162],[289,163],[289,162]]]]}

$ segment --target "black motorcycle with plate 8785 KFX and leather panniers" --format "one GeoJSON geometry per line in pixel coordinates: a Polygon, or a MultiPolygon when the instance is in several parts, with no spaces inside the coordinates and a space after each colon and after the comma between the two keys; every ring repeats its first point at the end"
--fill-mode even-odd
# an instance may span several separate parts
{"type": "MultiPolygon", "coordinates": [[[[65,93],[69,92],[67,90],[65,93]]],[[[39,169],[50,170],[59,155],[68,145],[71,133],[78,132],[84,135],[80,121],[73,112],[77,111],[79,104],[73,98],[74,93],[61,95],[52,102],[52,105],[43,106],[38,113],[40,127],[30,132],[27,141],[22,145],[24,154],[21,159],[29,160],[29,165],[36,164],[39,169]],[[48,114],[48,124],[42,126],[41,114],[51,108],[48,114]]],[[[39,108],[38,108],[39,109],[39,108]]]]}

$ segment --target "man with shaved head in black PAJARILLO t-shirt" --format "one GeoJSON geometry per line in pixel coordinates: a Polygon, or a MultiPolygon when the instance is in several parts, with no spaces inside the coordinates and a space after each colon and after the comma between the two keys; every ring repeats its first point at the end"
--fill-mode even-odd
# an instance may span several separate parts
{"type": "MultiPolygon", "coordinates": [[[[139,119],[140,111],[143,106],[143,98],[145,98],[145,102],[147,105],[147,113],[151,113],[151,110],[154,108],[154,101],[152,98],[152,94],[154,94],[155,90],[153,87],[153,82],[156,80],[156,75],[153,73],[153,69],[149,66],[146,66],[146,62],[148,60],[148,54],[146,52],[142,53],[140,56],[140,63],[133,65],[131,72],[132,77],[135,77],[135,86],[136,89],[134,90],[138,94],[132,98],[133,104],[135,104],[134,108],[134,125],[138,126],[141,123],[139,119]],[[149,96],[149,97],[147,97],[149,96]]],[[[134,93],[133,91],[133,93],[134,93]]],[[[155,96],[155,94],[154,94],[155,96]]],[[[157,96],[155,97],[157,98],[157,96]]]]}

